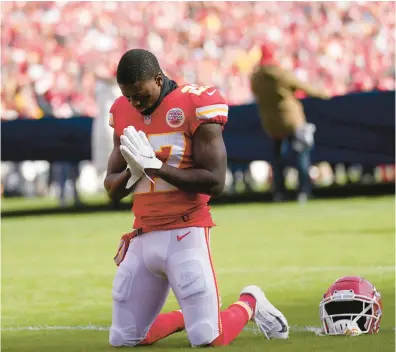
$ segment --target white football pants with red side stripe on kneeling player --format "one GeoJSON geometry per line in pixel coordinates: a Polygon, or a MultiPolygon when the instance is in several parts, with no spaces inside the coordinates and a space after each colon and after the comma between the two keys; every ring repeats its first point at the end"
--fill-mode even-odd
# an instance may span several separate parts
{"type": "Polygon", "coordinates": [[[191,344],[210,344],[220,334],[220,307],[209,229],[154,231],[132,240],[114,278],[110,344],[144,340],[170,288],[191,344]]]}

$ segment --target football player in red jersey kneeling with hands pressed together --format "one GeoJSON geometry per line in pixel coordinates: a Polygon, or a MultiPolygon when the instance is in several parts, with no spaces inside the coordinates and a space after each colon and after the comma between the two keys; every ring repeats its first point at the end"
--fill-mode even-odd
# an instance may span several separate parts
{"type": "Polygon", "coordinates": [[[134,192],[135,223],[115,257],[110,344],[148,345],[186,329],[192,346],[222,346],[249,320],[267,338],[287,338],[285,317],[257,286],[220,311],[208,201],[225,183],[224,98],[215,87],[178,86],[140,49],[122,56],[117,82],[104,184],[113,199],[134,192]],[[181,311],[160,314],[170,288],[181,311]]]}

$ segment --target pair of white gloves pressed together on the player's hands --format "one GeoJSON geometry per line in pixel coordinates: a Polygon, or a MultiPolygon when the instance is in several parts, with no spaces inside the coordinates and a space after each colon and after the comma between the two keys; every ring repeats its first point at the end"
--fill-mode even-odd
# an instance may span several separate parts
{"type": "Polygon", "coordinates": [[[143,131],[137,132],[135,127],[129,126],[124,129],[120,140],[120,150],[128,165],[140,170],[154,183],[145,173],[145,169],[160,169],[162,161],[156,157],[146,134],[143,131]]]}

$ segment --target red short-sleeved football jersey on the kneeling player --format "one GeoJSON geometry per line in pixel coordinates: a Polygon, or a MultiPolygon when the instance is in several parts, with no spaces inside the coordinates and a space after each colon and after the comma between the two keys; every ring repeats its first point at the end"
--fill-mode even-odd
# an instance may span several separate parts
{"type": "MultiPolygon", "coordinates": [[[[110,125],[118,136],[134,126],[146,133],[156,156],[177,168],[194,167],[192,137],[202,123],[225,125],[228,106],[218,89],[184,85],[167,95],[151,116],[142,116],[125,97],[110,109],[110,125]]],[[[143,231],[214,226],[210,196],[186,193],[161,178],[152,184],[143,177],[136,185],[132,211],[134,228],[143,231]]]]}

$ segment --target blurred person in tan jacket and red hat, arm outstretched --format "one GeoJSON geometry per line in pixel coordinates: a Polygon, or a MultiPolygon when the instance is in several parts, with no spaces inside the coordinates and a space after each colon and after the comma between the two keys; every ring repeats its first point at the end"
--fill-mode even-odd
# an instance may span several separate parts
{"type": "Polygon", "coordinates": [[[329,99],[329,96],[277,65],[269,45],[264,44],[261,52],[260,63],[251,76],[251,88],[264,131],[274,140],[274,200],[286,198],[284,170],[290,154],[299,173],[298,200],[306,201],[311,194],[309,167],[315,126],[307,123],[303,106],[295,93],[301,90],[308,96],[321,99],[329,99]]]}

